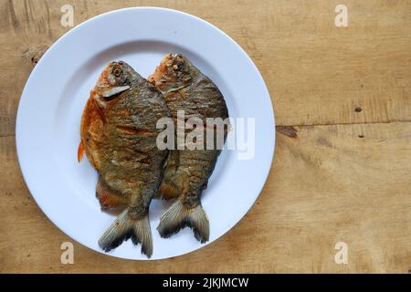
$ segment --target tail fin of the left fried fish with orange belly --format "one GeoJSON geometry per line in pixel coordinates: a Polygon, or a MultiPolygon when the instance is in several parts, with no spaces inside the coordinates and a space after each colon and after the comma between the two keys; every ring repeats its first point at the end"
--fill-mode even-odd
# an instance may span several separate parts
{"type": "Polygon", "coordinates": [[[153,237],[148,214],[134,218],[130,216],[129,208],[125,209],[101,235],[99,245],[102,250],[108,252],[129,238],[132,238],[134,245],[142,244],[143,255],[153,255],[153,237]]]}

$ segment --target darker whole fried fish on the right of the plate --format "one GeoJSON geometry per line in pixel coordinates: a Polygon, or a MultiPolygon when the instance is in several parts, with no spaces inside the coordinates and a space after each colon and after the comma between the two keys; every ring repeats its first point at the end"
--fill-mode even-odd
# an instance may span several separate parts
{"type": "MultiPolygon", "coordinates": [[[[149,80],[162,91],[174,122],[178,119],[178,110],[184,110],[185,119],[200,119],[203,124],[207,118],[228,118],[226,101],[220,90],[181,54],[165,56],[149,80]]],[[[226,137],[227,130],[224,130],[224,141],[226,137]]],[[[214,145],[211,150],[204,147],[204,150],[170,151],[159,193],[164,198],[177,199],[162,215],[157,227],[163,237],[189,226],[197,240],[208,241],[209,222],[200,199],[221,151],[216,143],[214,145]]]]}

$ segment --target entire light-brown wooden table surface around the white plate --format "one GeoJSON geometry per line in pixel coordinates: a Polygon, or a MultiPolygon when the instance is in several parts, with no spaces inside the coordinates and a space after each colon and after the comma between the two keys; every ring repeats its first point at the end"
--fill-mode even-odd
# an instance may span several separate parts
{"type": "MultiPolygon", "coordinates": [[[[408,273],[411,268],[411,2],[0,2],[0,272],[408,273]],[[135,262],[74,244],[37,207],[17,158],[16,110],[30,71],[70,27],[127,6],[204,18],[243,47],[267,82],[277,121],[269,179],[227,235],[188,255],[135,262]],[[336,264],[335,245],[348,264],[336,264]]],[[[33,109],[35,110],[35,109],[33,109]]]]}

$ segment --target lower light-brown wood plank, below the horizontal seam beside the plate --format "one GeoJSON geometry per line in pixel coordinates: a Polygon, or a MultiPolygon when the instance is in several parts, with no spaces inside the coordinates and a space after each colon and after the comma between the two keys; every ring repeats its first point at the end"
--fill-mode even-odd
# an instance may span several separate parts
{"type": "Polygon", "coordinates": [[[411,123],[294,127],[278,132],[268,182],[246,217],[188,255],[139,262],[74,243],[37,208],[12,137],[0,139],[0,272],[395,272],[411,268],[411,123]],[[283,133],[287,133],[283,134],[283,133]],[[360,138],[363,137],[363,138],[360,138]],[[348,265],[334,245],[348,245],[348,265]]]}

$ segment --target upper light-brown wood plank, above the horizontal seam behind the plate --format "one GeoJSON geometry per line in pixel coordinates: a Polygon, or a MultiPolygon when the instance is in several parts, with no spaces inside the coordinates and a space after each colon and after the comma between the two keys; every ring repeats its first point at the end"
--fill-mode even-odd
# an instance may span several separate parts
{"type": "MultiPolygon", "coordinates": [[[[200,16],[244,47],[265,78],[279,125],[411,120],[411,3],[345,1],[349,26],[333,25],[338,1],[3,1],[0,5],[0,136],[13,135],[16,108],[45,47],[75,24],[134,5],[200,16]],[[10,73],[13,72],[11,75],[10,73]],[[12,77],[12,78],[11,78],[12,77]],[[354,111],[361,107],[361,112],[354,111]]],[[[62,68],[64,71],[64,68],[62,68]]]]}

